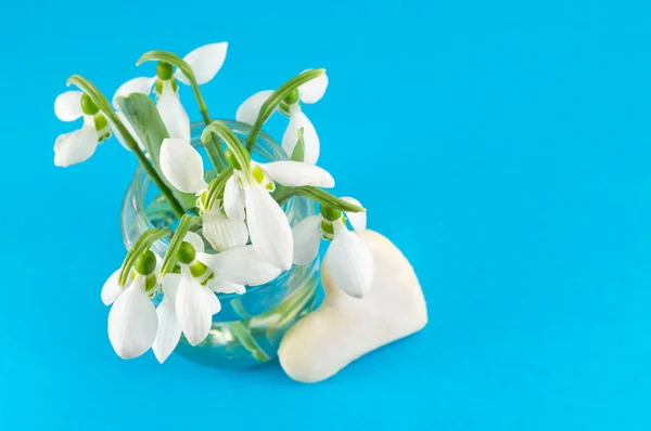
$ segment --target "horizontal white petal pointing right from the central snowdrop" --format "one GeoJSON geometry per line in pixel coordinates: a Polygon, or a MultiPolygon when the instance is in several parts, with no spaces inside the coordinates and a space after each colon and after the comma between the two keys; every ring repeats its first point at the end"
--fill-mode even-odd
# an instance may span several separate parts
{"type": "Polygon", "coordinates": [[[269,164],[257,164],[265,173],[273,181],[290,187],[314,185],[315,187],[332,188],[334,179],[323,168],[303,161],[271,161],[269,164]]]}

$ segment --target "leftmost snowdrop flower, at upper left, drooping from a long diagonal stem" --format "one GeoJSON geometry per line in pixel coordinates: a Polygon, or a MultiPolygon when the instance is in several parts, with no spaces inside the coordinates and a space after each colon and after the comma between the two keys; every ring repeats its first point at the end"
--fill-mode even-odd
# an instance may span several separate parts
{"type": "Polygon", "coordinates": [[[81,129],[56,138],[54,165],[59,167],[65,168],[88,160],[98,144],[111,138],[108,120],[81,91],[60,94],[54,101],[54,114],[61,121],[75,121],[84,117],[81,129]]]}

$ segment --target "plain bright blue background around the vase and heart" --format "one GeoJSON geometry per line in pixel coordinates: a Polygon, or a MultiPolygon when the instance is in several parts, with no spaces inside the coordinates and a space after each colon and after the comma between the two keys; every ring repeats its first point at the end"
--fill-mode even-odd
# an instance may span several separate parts
{"type": "MultiPolygon", "coordinates": [[[[648,430],[648,2],[8,3],[0,429],[648,430]],[[56,169],[76,73],[106,94],[151,49],[227,40],[214,117],[307,67],[336,192],[413,263],[420,334],[316,384],[277,363],[122,361],[100,289],[136,166],[116,141],[56,169]]],[[[186,90],[187,91],[187,90],[186,90]]],[[[189,94],[189,93],[188,93],[189,94]]],[[[197,118],[194,109],[191,113],[197,118]]],[[[270,131],[280,136],[282,121],[270,131]]]]}

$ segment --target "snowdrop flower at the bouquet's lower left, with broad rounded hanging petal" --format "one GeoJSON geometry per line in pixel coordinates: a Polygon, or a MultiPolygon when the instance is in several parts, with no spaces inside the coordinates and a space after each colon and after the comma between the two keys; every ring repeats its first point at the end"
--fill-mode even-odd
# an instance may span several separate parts
{"type": "Polygon", "coordinates": [[[158,318],[150,299],[158,287],[155,270],[156,258],[148,251],[138,259],[127,286],[118,285],[120,270],[117,270],[102,288],[102,302],[113,304],[108,313],[108,340],[123,360],[142,355],[156,337],[158,318]]]}

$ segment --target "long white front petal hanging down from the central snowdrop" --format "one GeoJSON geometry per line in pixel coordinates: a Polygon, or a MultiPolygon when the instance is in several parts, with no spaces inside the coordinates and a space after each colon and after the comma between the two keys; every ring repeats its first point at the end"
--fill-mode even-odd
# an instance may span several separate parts
{"type": "Polygon", "coordinates": [[[292,266],[294,244],[285,213],[256,182],[244,187],[244,200],[253,247],[272,265],[289,270],[292,266]]]}

